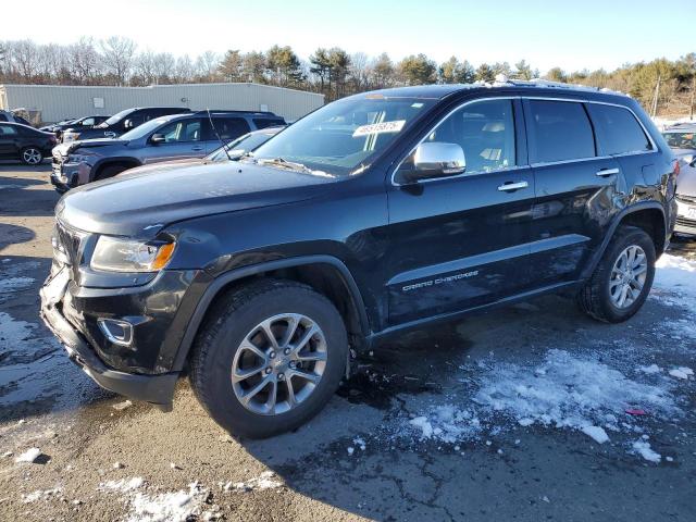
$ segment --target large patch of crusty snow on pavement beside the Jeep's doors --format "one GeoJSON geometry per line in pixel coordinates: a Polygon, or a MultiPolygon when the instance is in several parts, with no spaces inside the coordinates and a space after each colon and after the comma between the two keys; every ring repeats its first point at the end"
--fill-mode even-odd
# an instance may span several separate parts
{"type": "Polygon", "coordinates": [[[637,421],[626,419],[625,412],[636,406],[649,410],[654,419],[682,414],[669,380],[662,377],[657,384],[634,381],[599,356],[554,349],[536,366],[492,362],[477,369],[478,388],[464,397],[467,408],[419,407],[419,417],[401,428],[405,435],[445,443],[475,439],[484,428],[494,434],[485,426],[502,430],[499,420],[506,417],[521,426],[582,431],[602,444],[609,439],[607,430],[634,431],[631,423],[637,421]],[[535,371],[539,369],[543,372],[535,371]]]}

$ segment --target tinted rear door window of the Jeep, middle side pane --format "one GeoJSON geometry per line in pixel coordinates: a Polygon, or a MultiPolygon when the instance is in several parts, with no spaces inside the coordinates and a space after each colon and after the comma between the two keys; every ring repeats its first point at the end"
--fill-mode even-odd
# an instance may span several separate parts
{"type": "Polygon", "coordinates": [[[595,157],[595,137],[582,103],[529,100],[533,163],[595,157]]]}

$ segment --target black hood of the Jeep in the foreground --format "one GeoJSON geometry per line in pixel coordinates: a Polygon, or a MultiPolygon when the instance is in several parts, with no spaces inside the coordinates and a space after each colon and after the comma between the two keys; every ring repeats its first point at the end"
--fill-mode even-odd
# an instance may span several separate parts
{"type": "Polygon", "coordinates": [[[90,233],[151,238],[177,221],[311,199],[334,182],[237,162],[130,171],[71,190],[55,215],[90,233]]]}

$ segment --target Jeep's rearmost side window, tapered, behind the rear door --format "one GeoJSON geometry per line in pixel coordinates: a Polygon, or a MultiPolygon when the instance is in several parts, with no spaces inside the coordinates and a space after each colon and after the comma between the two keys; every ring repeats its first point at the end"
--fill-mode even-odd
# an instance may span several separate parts
{"type": "Polygon", "coordinates": [[[597,133],[599,154],[629,154],[652,149],[643,127],[627,109],[601,103],[587,103],[586,107],[597,133]]]}

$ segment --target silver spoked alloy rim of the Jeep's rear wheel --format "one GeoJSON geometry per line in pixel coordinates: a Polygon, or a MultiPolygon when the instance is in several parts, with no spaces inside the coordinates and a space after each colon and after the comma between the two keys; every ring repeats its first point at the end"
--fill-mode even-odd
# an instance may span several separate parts
{"type": "Polygon", "coordinates": [[[648,273],[645,251],[637,245],[626,247],[614,261],[609,278],[609,296],[614,307],[631,307],[641,296],[648,273]]]}

